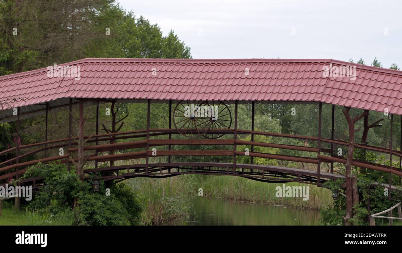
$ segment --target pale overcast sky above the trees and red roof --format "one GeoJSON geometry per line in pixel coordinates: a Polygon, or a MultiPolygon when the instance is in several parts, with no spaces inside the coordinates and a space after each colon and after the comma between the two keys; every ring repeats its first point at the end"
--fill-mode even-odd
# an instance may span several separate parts
{"type": "Polygon", "coordinates": [[[402,69],[402,1],[118,0],[194,59],[336,59],[402,69]]]}

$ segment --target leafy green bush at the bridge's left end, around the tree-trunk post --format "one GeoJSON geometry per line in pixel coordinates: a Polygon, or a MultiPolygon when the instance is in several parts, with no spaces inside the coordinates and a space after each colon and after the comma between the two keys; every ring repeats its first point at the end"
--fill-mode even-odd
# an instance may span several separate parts
{"type": "Polygon", "coordinates": [[[23,178],[45,178],[31,203],[39,213],[51,212],[59,216],[75,206],[76,224],[79,225],[135,225],[139,222],[143,199],[123,183],[112,184],[107,190],[103,182],[98,192],[92,190],[92,180],[82,182],[74,170],[67,171],[62,164],[36,164],[23,178]],[[110,191],[110,196],[107,194],[110,191]]]}

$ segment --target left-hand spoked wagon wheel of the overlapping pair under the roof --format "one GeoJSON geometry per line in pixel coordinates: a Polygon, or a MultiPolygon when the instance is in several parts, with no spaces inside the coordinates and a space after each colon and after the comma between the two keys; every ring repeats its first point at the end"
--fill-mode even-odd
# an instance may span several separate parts
{"type": "MultiPolygon", "coordinates": [[[[193,101],[193,108],[196,106],[209,105],[204,101],[193,101]]],[[[205,134],[211,128],[211,120],[209,117],[191,117],[186,114],[191,109],[189,101],[180,101],[173,110],[173,124],[176,130],[183,136],[196,138],[205,134]],[[186,106],[188,106],[186,108],[186,106]]]]}

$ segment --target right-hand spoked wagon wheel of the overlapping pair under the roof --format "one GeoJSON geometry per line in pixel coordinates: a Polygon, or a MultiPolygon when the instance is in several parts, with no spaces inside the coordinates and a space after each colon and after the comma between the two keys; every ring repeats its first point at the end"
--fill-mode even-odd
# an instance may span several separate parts
{"type": "MultiPolygon", "coordinates": [[[[232,113],[229,107],[221,101],[213,101],[209,103],[211,107],[214,107],[217,115],[216,117],[209,118],[210,128],[212,129],[230,129],[232,125],[232,113]]],[[[224,136],[224,134],[213,134],[212,132],[204,133],[203,136],[209,139],[217,139],[224,136]]]]}

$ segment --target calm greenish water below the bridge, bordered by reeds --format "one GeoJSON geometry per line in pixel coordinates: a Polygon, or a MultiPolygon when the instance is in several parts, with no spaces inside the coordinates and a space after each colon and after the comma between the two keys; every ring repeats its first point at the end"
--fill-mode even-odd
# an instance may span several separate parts
{"type": "Polygon", "coordinates": [[[315,210],[198,197],[189,217],[169,225],[317,225],[315,210]]]}

